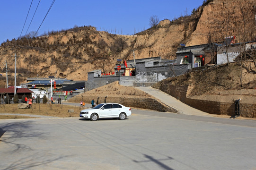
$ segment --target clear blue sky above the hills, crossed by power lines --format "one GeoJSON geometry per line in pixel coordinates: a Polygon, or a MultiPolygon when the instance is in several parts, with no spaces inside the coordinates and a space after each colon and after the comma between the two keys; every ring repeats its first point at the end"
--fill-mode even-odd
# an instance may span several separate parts
{"type": "MultiPolygon", "coordinates": [[[[2,0],[0,5],[0,43],[18,38],[32,0],[2,0]]],[[[22,35],[25,35],[39,0],[33,0],[22,35]]],[[[28,29],[36,31],[53,0],[41,0],[28,29]]],[[[74,26],[95,26],[112,34],[134,34],[148,29],[149,18],[174,19],[203,4],[203,0],[55,0],[39,35],[74,26]],[[187,11],[187,12],[186,12],[187,11]]]]}

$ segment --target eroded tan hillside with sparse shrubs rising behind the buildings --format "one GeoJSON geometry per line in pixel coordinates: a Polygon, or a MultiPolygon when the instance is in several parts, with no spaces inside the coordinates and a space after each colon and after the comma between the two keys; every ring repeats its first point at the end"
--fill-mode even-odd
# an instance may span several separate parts
{"type": "Polygon", "coordinates": [[[0,62],[7,60],[13,70],[16,53],[19,56],[18,74],[24,77],[57,76],[87,80],[88,71],[101,69],[105,73],[112,72],[116,59],[133,59],[131,50],[136,50],[136,59],[157,56],[175,59],[180,43],[217,42],[230,35],[236,35],[238,42],[241,39],[251,41],[256,35],[250,25],[255,22],[253,3],[252,0],[207,0],[190,16],[160,21],[156,28],[136,35],[115,35],[97,31],[92,26],[81,26],[45,36],[8,40],[0,46],[0,62]],[[245,10],[247,13],[241,16],[245,10]],[[228,14],[230,22],[223,17],[228,14]],[[248,16],[246,28],[250,29],[242,34],[238,31],[244,26],[241,18],[248,16]],[[216,31],[220,19],[230,26],[229,35],[216,31]]]}

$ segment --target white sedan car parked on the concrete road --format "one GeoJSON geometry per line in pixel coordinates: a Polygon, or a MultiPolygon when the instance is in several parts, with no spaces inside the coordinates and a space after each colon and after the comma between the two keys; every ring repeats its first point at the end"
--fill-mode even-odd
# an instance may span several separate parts
{"type": "Polygon", "coordinates": [[[125,107],[118,103],[101,103],[92,109],[84,109],[80,111],[80,117],[96,121],[99,118],[119,118],[124,120],[127,116],[131,116],[131,108],[125,107]]]}

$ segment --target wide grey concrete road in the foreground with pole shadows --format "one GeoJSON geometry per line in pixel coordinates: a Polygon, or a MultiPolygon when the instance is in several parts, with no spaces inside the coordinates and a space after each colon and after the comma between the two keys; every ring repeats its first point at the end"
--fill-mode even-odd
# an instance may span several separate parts
{"type": "Polygon", "coordinates": [[[256,122],[132,110],[0,120],[1,170],[256,170],[256,122]]]}

